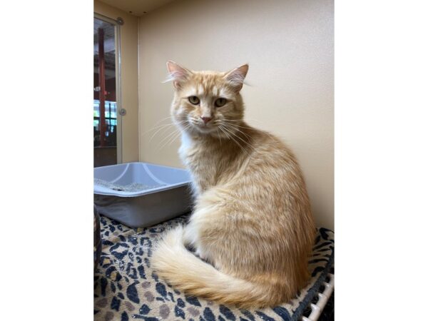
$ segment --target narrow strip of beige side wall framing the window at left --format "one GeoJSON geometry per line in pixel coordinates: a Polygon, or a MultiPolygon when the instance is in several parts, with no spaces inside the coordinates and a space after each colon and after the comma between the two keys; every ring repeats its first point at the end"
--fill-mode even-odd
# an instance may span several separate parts
{"type": "Polygon", "coordinates": [[[122,162],[138,161],[138,18],[125,11],[93,1],[93,11],[111,19],[120,16],[121,26],[121,89],[122,108],[122,162]]]}

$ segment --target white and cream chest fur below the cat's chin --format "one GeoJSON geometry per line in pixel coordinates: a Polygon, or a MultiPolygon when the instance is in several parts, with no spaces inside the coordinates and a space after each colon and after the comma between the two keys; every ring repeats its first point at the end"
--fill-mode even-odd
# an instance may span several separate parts
{"type": "Polygon", "coordinates": [[[217,183],[221,154],[216,146],[183,133],[178,153],[181,161],[190,170],[195,193],[203,193],[217,183]]]}

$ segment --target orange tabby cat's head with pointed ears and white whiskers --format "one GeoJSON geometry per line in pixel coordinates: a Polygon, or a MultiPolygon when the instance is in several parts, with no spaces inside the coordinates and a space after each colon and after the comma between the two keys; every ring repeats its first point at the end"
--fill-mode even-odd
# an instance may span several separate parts
{"type": "Polygon", "coordinates": [[[167,68],[167,81],[175,88],[171,113],[182,130],[223,137],[238,126],[244,114],[240,90],[248,64],[228,72],[190,71],[173,61],[167,68]]]}

